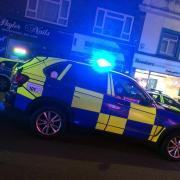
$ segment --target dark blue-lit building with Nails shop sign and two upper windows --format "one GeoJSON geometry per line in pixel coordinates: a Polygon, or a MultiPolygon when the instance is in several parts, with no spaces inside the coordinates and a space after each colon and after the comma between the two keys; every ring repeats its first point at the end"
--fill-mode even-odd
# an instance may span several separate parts
{"type": "Polygon", "coordinates": [[[145,13],[141,0],[2,0],[0,54],[17,58],[14,47],[31,56],[89,60],[112,53],[119,71],[130,72],[145,13]]]}

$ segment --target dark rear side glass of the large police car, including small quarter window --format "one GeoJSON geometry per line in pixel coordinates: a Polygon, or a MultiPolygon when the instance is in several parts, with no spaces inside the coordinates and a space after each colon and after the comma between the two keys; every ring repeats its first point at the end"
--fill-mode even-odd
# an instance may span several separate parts
{"type": "Polygon", "coordinates": [[[56,63],[46,67],[44,74],[48,79],[57,80],[58,77],[64,73],[68,65],[72,66],[69,71],[65,73],[61,82],[103,94],[107,92],[107,74],[97,73],[91,66],[69,61],[56,63]]]}

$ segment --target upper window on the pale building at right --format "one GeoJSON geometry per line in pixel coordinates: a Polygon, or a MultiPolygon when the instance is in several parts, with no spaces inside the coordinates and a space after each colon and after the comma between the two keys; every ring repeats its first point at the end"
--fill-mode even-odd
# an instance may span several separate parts
{"type": "Polygon", "coordinates": [[[176,57],[179,38],[178,35],[163,32],[160,40],[159,54],[176,57]]]}

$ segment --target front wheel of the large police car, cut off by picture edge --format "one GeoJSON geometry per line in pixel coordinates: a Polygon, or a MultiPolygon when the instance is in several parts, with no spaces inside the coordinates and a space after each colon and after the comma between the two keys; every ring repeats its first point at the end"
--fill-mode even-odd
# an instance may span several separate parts
{"type": "Polygon", "coordinates": [[[180,132],[167,135],[160,147],[161,154],[169,160],[180,160],[180,132]]]}

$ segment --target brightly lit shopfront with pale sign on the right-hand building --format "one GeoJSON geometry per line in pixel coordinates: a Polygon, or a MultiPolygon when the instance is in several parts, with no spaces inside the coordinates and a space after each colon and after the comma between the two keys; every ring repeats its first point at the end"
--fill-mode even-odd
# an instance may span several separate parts
{"type": "Polygon", "coordinates": [[[180,62],[135,54],[133,67],[134,77],[142,87],[180,99],[180,62]]]}

